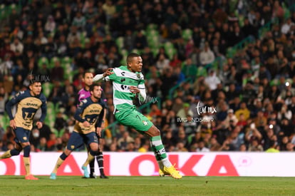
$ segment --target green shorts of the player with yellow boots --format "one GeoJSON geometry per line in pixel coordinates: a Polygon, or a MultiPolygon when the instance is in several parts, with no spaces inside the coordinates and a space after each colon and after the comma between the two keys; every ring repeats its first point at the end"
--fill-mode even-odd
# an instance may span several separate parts
{"type": "Polygon", "coordinates": [[[120,110],[115,113],[115,119],[118,120],[120,124],[134,128],[142,134],[152,127],[152,122],[135,109],[120,110]]]}

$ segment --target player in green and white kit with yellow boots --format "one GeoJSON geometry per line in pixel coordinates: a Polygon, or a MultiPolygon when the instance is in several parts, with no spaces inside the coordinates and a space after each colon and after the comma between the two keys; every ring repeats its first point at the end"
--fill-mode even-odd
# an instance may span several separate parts
{"type": "Polygon", "coordinates": [[[180,179],[182,175],[167,157],[160,137],[160,130],[145,115],[136,110],[134,100],[139,98],[140,102],[143,103],[146,98],[142,68],[143,59],[141,56],[137,53],[130,53],[127,56],[127,66],[108,68],[105,73],[96,75],[93,81],[113,81],[113,104],[116,120],[150,137],[150,145],[160,167],[160,176],[171,175],[175,179],[180,179]]]}

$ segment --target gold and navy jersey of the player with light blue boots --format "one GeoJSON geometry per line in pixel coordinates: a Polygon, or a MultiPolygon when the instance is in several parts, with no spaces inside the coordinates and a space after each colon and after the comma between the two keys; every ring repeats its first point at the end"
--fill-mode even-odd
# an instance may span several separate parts
{"type": "Polygon", "coordinates": [[[74,118],[77,120],[74,131],[83,134],[95,132],[95,125],[100,127],[103,120],[104,108],[105,103],[101,99],[97,103],[94,103],[90,97],[81,100],[74,115],[74,118]],[[90,127],[84,127],[83,122],[86,120],[90,123],[90,127]]]}

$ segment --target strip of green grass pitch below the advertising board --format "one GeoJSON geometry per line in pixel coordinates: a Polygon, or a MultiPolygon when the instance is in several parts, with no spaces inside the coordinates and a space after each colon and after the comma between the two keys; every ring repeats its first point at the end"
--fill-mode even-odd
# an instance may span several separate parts
{"type": "Polygon", "coordinates": [[[295,195],[295,177],[0,176],[0,195],[295,195]]]}

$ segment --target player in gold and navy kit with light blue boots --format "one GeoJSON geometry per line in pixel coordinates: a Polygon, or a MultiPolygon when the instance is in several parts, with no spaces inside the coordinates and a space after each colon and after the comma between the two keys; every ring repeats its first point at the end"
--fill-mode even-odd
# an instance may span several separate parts
{"type": "Polygon", "coordinates": [[[56,166],[51,172],[50,179],[56,180],[56,172],[58,167],[63,164],[68,155],[70,155],[73,150],[80,148],[84,143],[90,147],[88,158],[82,166],[84,172],[84,177],[90,177],[87,169],[87,165],[95,156],[98,155],[98,137],[100,136],[100,125],[103,120],[105,103],[100,100],[101,88],[98,84],[93,84],[90,86],[89,98],[83,99],[74,115],[76,119],[76,124],[74,126],[74,131],[71,134],[68,144],[63,153],[59,156],[56,166]],[[98,133],[96,134],[97,131],[98,133]]]}

